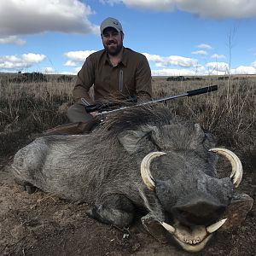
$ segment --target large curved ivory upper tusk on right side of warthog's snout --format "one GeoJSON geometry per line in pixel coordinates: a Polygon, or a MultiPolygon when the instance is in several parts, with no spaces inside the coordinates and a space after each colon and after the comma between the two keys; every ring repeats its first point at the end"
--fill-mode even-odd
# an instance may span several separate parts
{"type": "Polygon", "coordinates": [[[227,160],[230,160],[230,164],[232,166],[232,172],[230,174],[230,177],[233,179],[233,183],[237,188],[241,183],[241,177],[242,177],[241,160],[238,158],[238,156],[226,148],[211,148],[209,149],[209,151],[221,154],[227,160]]]}

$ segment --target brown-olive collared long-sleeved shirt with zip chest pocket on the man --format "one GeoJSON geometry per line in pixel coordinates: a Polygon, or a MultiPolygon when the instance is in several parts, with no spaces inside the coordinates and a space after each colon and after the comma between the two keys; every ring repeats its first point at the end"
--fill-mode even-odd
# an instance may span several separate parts
{"type": "Polygon", "coordinates": [[[88,105],[109,99],[137,96],[138,102],[150,101],[151,71],[147,58],[129,48],[123,49],[122,59],[113,67],[105,49],[89,55],[78,73],[73,90],[75,102],[84,98],[88,105]],[[94,85],[94,100],[89,95],[94,85]]]}

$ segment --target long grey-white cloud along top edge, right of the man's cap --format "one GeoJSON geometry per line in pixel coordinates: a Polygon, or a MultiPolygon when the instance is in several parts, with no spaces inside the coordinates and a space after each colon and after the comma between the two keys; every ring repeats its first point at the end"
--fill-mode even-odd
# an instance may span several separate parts
{"type": "Polygon", "coordinates": [[[152,11],[168,11],[174,9],[189,12],[207,19],[253,18],[256,16],[255,0],[101,0],[102,3],[113,5],[124,3],[135,9],[150,9],[152,11]]]}

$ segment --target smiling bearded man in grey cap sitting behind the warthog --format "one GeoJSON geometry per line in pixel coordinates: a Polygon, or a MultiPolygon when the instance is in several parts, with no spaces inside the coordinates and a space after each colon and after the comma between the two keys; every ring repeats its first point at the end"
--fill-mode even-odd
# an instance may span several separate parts
{"type": "Polygon", "coordinates": [[[124,100],[137,96],[138,102],[151,100],[151,71],[146,57],[123,46],[124,32],[119,20],[107,18],[101,24],[104,49],[87,57],[73,89],[74,104],[67,110],[71,122],[93,121],[96,113],[84,106],[95,102],[124,100]],[[94,85],[94,99],[90,87],[94,85]]]}

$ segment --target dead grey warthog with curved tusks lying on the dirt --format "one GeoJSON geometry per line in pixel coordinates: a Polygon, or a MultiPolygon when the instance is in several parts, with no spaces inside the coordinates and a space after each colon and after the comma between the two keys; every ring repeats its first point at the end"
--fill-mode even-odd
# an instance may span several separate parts
{"type": "Polygon", "coordinates": [[[103,223],[128,226],[144,208],[196,252],[224,224],[241,182],[236,154],[214,146],[210,133],[167,108],[131,108],[90,135],[36,139],[15,154],[12,170],[26,188],[90,203],[87,213],[103,223]],[[230,177],[218,178],[215,153],[230,160],[230,177]]]}

